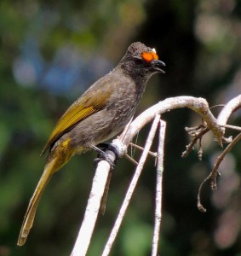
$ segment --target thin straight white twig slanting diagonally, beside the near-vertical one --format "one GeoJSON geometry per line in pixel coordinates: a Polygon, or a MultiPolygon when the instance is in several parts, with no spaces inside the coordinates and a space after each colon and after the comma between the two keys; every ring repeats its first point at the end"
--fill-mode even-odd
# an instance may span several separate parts
{"type": "Polygon", "coordinates": [[[116,222],[112,228],[112,232],[111,232],[111,235],[109,236],[108,238],[108,241],[106,242],[106,247],[104,248],[104,251],[102,253],[102,256],[107,256],[109,255],[110,251],[111,251],[111,248],[112,248],[112,245],[113,245],[113,242],[115,241],[115,238],[118,234],[118,230],[120,228],[120,225],[123,221],[123,216],[127,210],[127,207],[129,206],[129,201],[134,193],[134,190],[135,190],[135,186],[138,182],[138,179],[141,175],[141,171],[143,169],[143,166],[145,164],[145,161],[146,161],[146,157],[148,155],[148,152],[152,146],[152,141],[153,141],[153,138],[155,136],[155,133],[158,129],[158,121],[160,119],[160,115],[156,115],[153,123],[152,123],[152,128],[151,128],[151,131],[149,132],[149,135],[147,137],[147,140],[146,140],[146,145],[145,145],[145,148],[143,150],[143,153],[141,154],[141,159],[139,161],[139,164],[138,166],[136,167],[135,169],[135,175],[134,177],[132,178],[132,181],[131,183],[129,184],[129,189],[125,195],[125,198],[124,198],[124,201],[123,201],[123,205],[118,213],[118,218],[116,219],[116,222]]]}

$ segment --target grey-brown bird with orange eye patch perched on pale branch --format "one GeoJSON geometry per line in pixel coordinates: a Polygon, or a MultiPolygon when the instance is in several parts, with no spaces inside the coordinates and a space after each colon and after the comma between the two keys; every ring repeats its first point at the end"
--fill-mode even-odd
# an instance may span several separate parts
{"type": "Polygon", "coordinates": [[[122,131],[135,113],[154,73],[164,73],[164,62],[155,49],[145,44],[129,46],[118,66],[86,90],[59,119],[42,154],[49,150],[43,175],[37,183],[21,226],[18,245],[26,242],[32,228],[37,205],[50,177],[74,154],[96,147],[122,131]]]}

